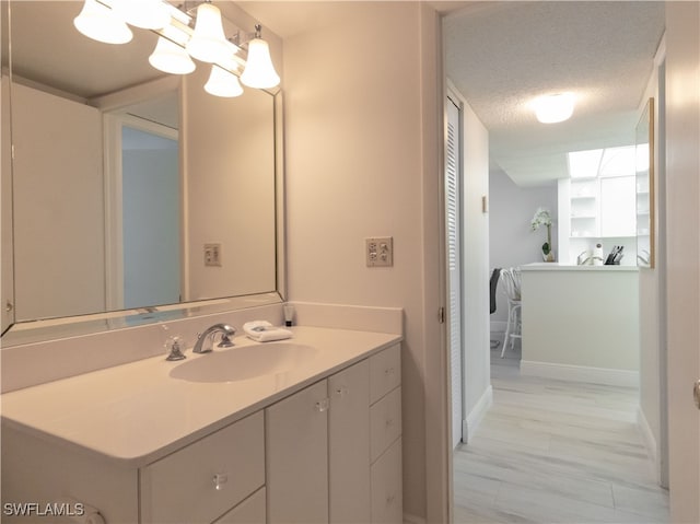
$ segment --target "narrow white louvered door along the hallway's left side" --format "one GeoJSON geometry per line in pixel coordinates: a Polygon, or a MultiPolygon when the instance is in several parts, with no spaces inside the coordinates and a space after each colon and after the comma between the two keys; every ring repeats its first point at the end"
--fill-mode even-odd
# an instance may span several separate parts
{"type": "Polygon", "coordinates": [[[464,356],[462,351],[462,220],[459,178],[462,154],[459,144],[459,106],[450,97],[445,101],[447,112],[447,143],[445,147],[445,234],[447,235],[447,333],[450,340],[452,373],[452,447],[462,442],[464,419],[464,356]]]}

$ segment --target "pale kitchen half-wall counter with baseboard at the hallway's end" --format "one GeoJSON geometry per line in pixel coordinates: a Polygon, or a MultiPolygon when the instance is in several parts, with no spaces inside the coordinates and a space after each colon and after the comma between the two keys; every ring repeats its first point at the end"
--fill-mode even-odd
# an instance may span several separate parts
{"type": "Polygon", "coordinates": [[[521,373],[638,384],[637,267],[532,264],[521,269],[521,373]]]}

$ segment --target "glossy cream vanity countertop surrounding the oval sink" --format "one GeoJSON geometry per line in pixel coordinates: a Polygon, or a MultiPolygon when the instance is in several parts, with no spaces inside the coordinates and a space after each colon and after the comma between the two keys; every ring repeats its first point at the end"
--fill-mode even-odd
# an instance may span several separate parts
{"type": "MultiPolygon", "coordinates": [[[[240,382],[196,383],[170,376],[165,354],[0,396],[3,423],[140,467],[401,340],[395,334],[293,327],[285,342],[317,357],[285,373],[240,382]]],[[[260,342],[244,336],[231,349],[260,342]]],[[[275,343],[275,342],[265,342],[275,343]]]]}

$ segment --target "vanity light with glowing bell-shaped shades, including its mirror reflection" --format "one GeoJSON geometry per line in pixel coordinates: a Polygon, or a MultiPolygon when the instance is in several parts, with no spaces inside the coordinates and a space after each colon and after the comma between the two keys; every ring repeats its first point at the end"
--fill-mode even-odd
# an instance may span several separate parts
{"type": "Polygon", "coordinates": [[[192,72],[197,67],[192,58],[212,63],[205,90],[217,96],[238,96],[243,93],[241,82],[261,90],[279,85],[280,77],[259,24],[244,38],[240,31],[226,38],[221,11],[211,0],[186,1],[180,7],[166,0],[85,0],[73,23],[85,36],[109,44],[126,43],[133,36],[125,20],[149,28],[159,35],[149,63],[171,74],[192,72]],[[112,34],[118,36],[108,36],[112,34]],[[238,56],[242,48],[247,50],[246,58],[238,56]],[[243,73],[238,74],[241,69],[243,73]]]}

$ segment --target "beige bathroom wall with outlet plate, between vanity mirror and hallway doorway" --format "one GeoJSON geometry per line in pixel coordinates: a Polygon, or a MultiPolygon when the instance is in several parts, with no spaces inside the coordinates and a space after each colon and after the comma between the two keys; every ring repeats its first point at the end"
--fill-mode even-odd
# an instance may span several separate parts
{"type": "Polygon", "coordinates": [[[439,226],[436,23],[413,2],[336,9],[284,42],[289,295],[404,308],[404,501],[424,516],[424,374],[440,351],[439,231],[425,230],[439,226]],[[377,235],[394,237],[390,268],[365,266],[364,238],[377,235]]]}

